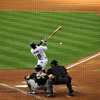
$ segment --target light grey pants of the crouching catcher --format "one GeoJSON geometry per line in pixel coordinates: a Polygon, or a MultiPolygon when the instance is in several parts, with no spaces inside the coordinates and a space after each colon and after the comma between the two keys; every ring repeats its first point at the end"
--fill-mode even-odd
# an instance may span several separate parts
{"type": "Polygon", "coordinates": [[[33,79],[27,80],[27,84],[28,84],[28,86],[29,86],[29,88],[31,90],[36,90],[36,89],[39,89],[40,90],[40,89],[45,89],[46,88],[46,85],[39,85],[33,79]]]}

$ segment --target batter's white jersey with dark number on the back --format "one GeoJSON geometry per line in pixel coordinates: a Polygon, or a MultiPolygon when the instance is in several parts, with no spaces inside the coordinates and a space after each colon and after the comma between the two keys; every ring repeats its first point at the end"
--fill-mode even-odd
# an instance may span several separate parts
{"type": "Polygon", "coordinates": [[[47,50],[46,46],[36,46],[35,49],[31,49],[31,53],[38,59],[43,60],[46,58],[45,50],[47,50]]]}

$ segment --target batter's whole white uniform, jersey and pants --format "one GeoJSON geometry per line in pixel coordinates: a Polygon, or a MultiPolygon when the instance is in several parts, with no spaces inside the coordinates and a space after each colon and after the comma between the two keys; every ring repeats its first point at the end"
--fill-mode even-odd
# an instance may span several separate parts
{"type": "Polygon", "coordinates": [[[37,65],[42,66],[42,70],[44,70],[45,66],[48,63],[48,59],[45,54],[45,50],[47,50],[47,46],[36,46],[35,49],[31,49],[31,53],[35,56],[38,60],[37,65]]]}

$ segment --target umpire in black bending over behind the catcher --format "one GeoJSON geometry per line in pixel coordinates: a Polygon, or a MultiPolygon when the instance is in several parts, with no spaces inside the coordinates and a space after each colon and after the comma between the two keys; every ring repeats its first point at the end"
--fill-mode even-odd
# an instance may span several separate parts
{"type": "Polygon", "coordinates": [[[70,92],[70,96],[74,96],[74,91],[71,85],[71,77],[68,75],[67,69],[65,69],[64,66],[59,66],[58,61],[56,60],[52,60],[50,65],[51,68],[48,69],[47,74],[52,74],[54,78],[47,80],[46,97],[54,97],[53,84],[66,84],[70,92]]]}

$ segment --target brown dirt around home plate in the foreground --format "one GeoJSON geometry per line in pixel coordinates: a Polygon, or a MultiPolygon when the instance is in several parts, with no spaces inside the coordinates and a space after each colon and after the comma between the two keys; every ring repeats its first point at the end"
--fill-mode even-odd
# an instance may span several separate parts
{"type": "MultiPolygon", "coordinates": [[[[69,71],[73,78],[72,84],[75,96],[69,94],[65,85],[55,85],[55,98],[53,100],[100,100],[100,52],[81,59],[69,71]],[[99,54],[99,55],[98,55],[99,54]],[[95,56],[96,55],[96,56],[95,56]],[[91,58],[91,59],[90,59],[91,58]],[[84,61],[85,59],[88,59],[84,61]],[[84,61],[84,62],[82,62],[84,61]],[[82,62],[82,63],[80,63],[82,62]]],[[[71,64],[72,65],[72,64],[71,64]]],[[[32,69],[0,70],[0,99],[1,100],[45,100],[47,99],[43,90],[38,94],[28,95],[28,88],[16,87],[26,85],[24,75],[32,73],[32,69]]]]}

